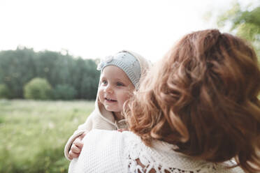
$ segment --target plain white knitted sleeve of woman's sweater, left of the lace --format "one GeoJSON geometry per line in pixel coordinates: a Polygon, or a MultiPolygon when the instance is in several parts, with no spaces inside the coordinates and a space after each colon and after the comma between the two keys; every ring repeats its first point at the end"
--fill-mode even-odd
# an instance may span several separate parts
{"type": "Polygon", "coordinates": [[[83,142],[80,156],[71,161],[69,173],[124,172],[122,133],[94,129],[83,142]]]}

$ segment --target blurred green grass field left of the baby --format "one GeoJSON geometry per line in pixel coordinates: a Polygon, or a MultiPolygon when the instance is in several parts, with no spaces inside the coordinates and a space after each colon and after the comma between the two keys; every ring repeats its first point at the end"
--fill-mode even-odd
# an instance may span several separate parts
{"type": "Polygon", "coordinates": [[[0,100],[0,173],[68,172],[64,145],[90,101],[0,100]]]}

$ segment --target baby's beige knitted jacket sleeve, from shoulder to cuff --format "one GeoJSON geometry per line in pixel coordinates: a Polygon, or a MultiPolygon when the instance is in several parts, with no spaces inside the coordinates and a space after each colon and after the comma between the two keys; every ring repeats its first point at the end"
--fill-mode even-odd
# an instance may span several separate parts
{"type": "Polygon", "coordinates": [[[85,131],[90,131],[93,128],[94,115],[95,115],[95,111],[92,112],[87,117],[87,120],[85,121],[85,123],[82,123],[80,126],[78,126],[78,130],[75,130],[73,135],[71,135],[71,137],[69,137],[68,142],[66,143],[65,148],[64,148],[64,155],[65,155],[66,159],[70,160],[68,158],[68,152],[70,151],[71,145],[74,142],[75,138],[82,135],[82,133],[84,133],[85,131]]]}

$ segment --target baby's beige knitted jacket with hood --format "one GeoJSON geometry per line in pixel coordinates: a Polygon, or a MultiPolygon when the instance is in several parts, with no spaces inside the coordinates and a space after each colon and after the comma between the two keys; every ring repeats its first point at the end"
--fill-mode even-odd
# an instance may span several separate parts
{"type": "MultiPolygon", "coordinates": [[[[133,57],[136,57],[138,59],[140,64],[140,81],[145,77],[145,74],[147,73],[147,70],[150,69],[152,66],[150,61],[147,61],[139,54],[136,54],[135,52],[131,52],[129,50],[123,50],[122,52],[129,52],[133,55],[133,57]]],[[[139,81],[139,82],[140,82],[139,81]]],[[[65,149],[64,149],[64,155],[68,158],[68,152],[71,149],[71,145],[75,138],[82,135],[85,131],[90,131],[92,129],[103,129],[103,130],[117,130],[118,128],[127,128],[127,123],[125,120],[116,121],[113,112],[109,112],[105,109],[105,107],[100,103],[98,96],[96,96],[96,102],[95,102],[95,109],[94,111],[88,116],[85,123],[78,126],[78,130],[75,130],[73,135],[69,137],[68,142],[66,143],[65,149]]]]}

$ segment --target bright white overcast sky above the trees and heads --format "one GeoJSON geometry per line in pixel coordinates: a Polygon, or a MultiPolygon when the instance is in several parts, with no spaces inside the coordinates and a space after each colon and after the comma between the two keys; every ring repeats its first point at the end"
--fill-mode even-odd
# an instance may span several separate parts
{"type": "Polygon", "coordinates": [[[22,45],[95,59],[127,49],[154,62],[185,33],[215,27],[203,16],[231,1],[0,0],[0,50],[22,45]]]}

